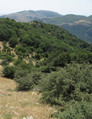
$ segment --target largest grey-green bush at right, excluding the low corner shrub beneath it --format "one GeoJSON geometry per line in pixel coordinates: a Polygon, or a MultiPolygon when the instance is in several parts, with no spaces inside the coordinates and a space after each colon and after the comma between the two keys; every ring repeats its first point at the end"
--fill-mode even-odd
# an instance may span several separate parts
{"type": "Polygon", "coordinates": [[[40,91],[42,101],[51,104],[81,101],[82,94],[92,93],[92,65],[73,63],[52,72],[41,80],[40,91]]]}

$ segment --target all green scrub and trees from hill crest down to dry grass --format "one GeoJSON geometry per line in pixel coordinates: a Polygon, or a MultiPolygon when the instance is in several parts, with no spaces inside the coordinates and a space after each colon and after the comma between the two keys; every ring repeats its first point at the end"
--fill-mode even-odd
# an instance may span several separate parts
{"type": "Polygon", "coordinates": [[[60,27],[0,19],[2,76],[57,106],[51,117],[92,118],[92,45],[60,27]]]}

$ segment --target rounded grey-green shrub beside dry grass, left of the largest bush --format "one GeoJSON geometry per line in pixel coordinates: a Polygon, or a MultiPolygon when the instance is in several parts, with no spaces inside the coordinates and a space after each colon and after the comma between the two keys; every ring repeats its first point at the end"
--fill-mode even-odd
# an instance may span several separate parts
{"type": "Polygon", "coordinates": [[[15,81],[17,82],[17,89],[19,91],[28,91],[35,88],[41,79],[40,72],[26,74],[25,71],[19,71],[18,73],[15,73],[15,75],[15,81]]]}

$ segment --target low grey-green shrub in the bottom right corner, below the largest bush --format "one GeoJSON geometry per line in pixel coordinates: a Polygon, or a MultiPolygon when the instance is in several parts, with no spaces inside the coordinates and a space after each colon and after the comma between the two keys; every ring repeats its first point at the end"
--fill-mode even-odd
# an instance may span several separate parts
{"type": "Polygon", "coordinates": [[[92,119],[92,103],[88,102],[69,102],[54,114],[53,117],[59,119],[92,119]]]}

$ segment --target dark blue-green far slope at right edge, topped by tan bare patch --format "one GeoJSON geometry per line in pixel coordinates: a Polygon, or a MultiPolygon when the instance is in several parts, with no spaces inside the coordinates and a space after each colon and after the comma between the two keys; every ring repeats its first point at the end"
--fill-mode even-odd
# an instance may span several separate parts
{"type": "Polygon", "coordinates": [[[78,38],[92,43],[92,24],[87,21],[77,21],[73,24],[64,24],[62,28],[76,35],[78,38]]]}

